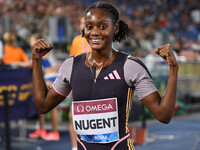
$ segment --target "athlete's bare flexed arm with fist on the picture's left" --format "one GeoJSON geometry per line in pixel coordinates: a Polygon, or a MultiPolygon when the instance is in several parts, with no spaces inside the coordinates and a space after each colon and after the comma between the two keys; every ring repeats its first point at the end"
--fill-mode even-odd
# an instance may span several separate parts
{"type": "Polygon", "coordinates": [[[65,98],[57,94],[53,88],[48,90],[43,78],[41,58],[51,51],[52,48],[44,39],[39,39],[32,45],[33,97],[40,113],[50,111],[65,98]]]}

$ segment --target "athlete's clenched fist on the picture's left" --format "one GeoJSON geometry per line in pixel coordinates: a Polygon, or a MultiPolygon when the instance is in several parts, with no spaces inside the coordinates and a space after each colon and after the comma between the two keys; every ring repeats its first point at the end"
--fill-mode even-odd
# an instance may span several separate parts
{"type": "Polygon", "coordinates": [[[44,39],[39,39],[32,46],[32,59],[40,59],[53,49],[53,46],[44,39]]]}

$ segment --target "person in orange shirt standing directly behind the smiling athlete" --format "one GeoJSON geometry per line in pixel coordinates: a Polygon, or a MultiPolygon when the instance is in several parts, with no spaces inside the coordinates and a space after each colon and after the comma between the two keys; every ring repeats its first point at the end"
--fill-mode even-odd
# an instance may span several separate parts
{"type": "MultiPolygon", "coordinates": [[[[85,27],[85,20],[84,20],[84,15],[81,16],[80,18],[80,30],[83,30],[85,27]]],[[[85,37],[82,37],[82,34],[76,36],[73,41],[72,41],[72,45],[71,45],[71,49],[70,49],[70,53],[69,56],[73,56],[73,55],[79,55],[82,53],[86,53],[91,51],[91,47],[88,44],[87,40],[85,39],[85,37]]],[[[72,92],[70,93],[70,98],[73,99],[72,97],[72,92]]],[[[70,111],[69,111],[69,122],[70,122],[70,136],[71,136],[71,142],[72,142],[72,150],[77,150],[77,134],[74,131],[74,127],[72,124],[72,107],[70,107],[70,111]]]]}

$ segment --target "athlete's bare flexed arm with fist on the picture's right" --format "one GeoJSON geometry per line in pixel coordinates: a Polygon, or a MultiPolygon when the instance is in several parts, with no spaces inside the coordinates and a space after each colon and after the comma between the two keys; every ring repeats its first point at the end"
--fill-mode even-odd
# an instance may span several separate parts
{"type": "Polygon", "coordinates": [[[142,99],[144,105],[163,123],[169,123],[173,115],[176,102],[176,88],[178,77],[178,63],[169,44],[160,46],[156,53],[169,65],[169,80],[163,97],[154,92],[142,99]]]}

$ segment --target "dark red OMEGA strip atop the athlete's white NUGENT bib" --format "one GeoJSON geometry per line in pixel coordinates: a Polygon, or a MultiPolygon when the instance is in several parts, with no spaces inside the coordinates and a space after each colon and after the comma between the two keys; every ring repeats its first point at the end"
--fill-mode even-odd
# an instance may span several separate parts
{"type": "Polygon", "coordinates": [[[73,103],[73,105],[74,115],[96,114],[116,111],[116,103],[114,103],[114,100],[78,102],[73,103]]]}

